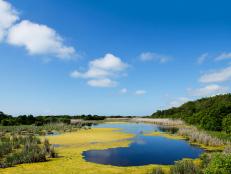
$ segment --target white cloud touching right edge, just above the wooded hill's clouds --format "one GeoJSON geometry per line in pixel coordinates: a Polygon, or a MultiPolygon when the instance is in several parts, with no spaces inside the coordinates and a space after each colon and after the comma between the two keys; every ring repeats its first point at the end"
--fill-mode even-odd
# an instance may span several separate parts
{"type": "Polygon", "coordinates": [[[207,73],[200,77],[202,83],[224,82],[231,79],[231,66],[216,72],[207,73]]]}

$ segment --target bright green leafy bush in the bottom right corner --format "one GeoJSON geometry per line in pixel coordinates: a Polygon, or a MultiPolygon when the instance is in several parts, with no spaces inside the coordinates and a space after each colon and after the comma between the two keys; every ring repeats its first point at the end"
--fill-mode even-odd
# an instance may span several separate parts
{"type": "Polygon", "coordinates": [[[231,171],[231,154],[216,153],[205,169],[205,174],[229,174],[231,171]]]}

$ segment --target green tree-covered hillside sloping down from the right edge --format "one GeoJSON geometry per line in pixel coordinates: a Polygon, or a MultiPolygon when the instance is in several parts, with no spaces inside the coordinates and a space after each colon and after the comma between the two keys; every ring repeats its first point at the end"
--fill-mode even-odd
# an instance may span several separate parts
{"type": "Polygon", "coordinates": [[[202,98],[180,107],[158,110],[151,117],[182,119],[205,130],[231,133],[231,94],[202,98]]]}

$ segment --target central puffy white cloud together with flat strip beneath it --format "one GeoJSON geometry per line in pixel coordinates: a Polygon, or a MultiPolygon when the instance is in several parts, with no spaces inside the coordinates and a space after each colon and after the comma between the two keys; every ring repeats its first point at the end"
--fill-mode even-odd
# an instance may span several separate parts
{"type": "Polygon", "coordinates": [[[108,53],[104,57],[90,61],[86,72],[75,70],[70,76],[73,78],[91,79],[88,81],[90,86],[113,87],[117,83],[111,80],[111,78],[121,75],[121,72],[127,67],[128,64],[124,63],[119,57],[108,53]]]}

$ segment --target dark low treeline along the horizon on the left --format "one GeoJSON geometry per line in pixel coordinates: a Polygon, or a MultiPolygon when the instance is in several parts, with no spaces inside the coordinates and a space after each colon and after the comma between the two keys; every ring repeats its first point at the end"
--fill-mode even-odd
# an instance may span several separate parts
{"type": "Polygon", "coordinates": [[[33,115],[20,115],[13,117],[11,115],[0,112],[0,125],[2,126],[15,126],[15,125],[36,125],[42,126],[49,123],[66,123],[70,124],[71,119],[83,119],[83,120],[104,120],[105,116],[98,115],[57,115],[57,116],[33,116],[33,115]]]}

